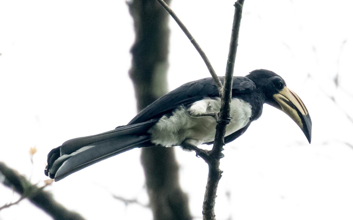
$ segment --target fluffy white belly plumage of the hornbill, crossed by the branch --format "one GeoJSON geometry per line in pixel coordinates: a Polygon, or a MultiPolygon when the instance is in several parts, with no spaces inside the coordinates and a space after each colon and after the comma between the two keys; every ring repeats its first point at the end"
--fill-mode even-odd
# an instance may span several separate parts
{"type": "MultiPolygon", "coordinates": [[[[211,116],[195,115],[219,112],[220,107],[220,98],[204,98],[194,102],[188,109],[180,106],[169,117],[161,117],[148,130],[151,142],[162,146],[179,146],[184,140],[196,146],[212,142],[216,134],[216,120],[211,116]]],[[[251,105],[241,99],[232,99],[230,116],[232,120],[227,125],[226,136],[247,125],[251,117],[251,105]]]]}

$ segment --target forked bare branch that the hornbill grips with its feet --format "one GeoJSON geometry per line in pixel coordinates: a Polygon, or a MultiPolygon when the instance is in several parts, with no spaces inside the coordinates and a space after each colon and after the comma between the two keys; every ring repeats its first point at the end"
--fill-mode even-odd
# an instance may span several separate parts
{"type": "MultiPolygon", "coordinates": [[[[186,29],[183,23],[178,19],[177,15],[169,8],[169,6],[163,0],[157,0],[164,9],[174,18],[180,28],[184,31],[186,36],[190,39],[191,43],[195,46],[201,57],[204,59],[210,73],[216,82],[219,94],[221,94],[221,109],[220,109],[220,120],[217,121],[216,135],[214,145],[211,151],[200,149],[196,146],[184,146],[189,149],[196,151],[196,154],[204,159],[209,166],[208,180],[205,191],[205,197],[203,202],[203,219],[204,220],[215,220],[215,200],[216,192],[219,180],[222,176],[222,172],[219,169],[220,158],[223,157],[222,150],[224,144],[224,136],[226,133],[226,125],[230,122],[230,105],[232,99],[232,84],[233,84],[233,71],[235,63],[235,55],[237,54],[240,20],[243,9],[244,0],[238,0],[235,2],[235,12],[233,18],[231,42],[229,44],[229,54],[226,67],[226,77],[224,80],[224,86],[222,86],[218,76],[214,73],[214,70],[209,63],[204,52],[201,50],[195,39],[191,36],[190,32],[186,29]]],[[[187,144],[186,144],[187,145],[187,144]]]]}

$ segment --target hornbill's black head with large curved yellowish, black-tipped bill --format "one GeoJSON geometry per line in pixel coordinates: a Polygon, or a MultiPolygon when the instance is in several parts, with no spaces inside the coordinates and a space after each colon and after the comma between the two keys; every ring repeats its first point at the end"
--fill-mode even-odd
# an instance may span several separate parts
{"type": "Polygon", "coordinates": [[[272,71],[259,69],[246,76],[265,95],[265,103],[280,109],[291,117],[311,142],[311,119],[299,96],[288,89],[286,82],[272,71]]]}

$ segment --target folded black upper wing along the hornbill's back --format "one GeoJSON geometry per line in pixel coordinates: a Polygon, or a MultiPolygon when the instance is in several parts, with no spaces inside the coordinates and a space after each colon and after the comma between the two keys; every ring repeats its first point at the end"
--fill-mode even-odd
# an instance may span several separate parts
{"type": "MultiPolygon", "coordinates": [[[[220,77],[220,80],[223,83],[224,77],[220,77]]],[[[247,77],[235,76],[233,78],[233,94],[251,92],[255,87],[255,83],[247,77]]],[[[137,114],[128,125],[161,117],[161,115],[166,114],[181,105],[189,105],[205,97],[216,96],[219,96],[219,93],[213,78],[209,77],[188,82],[152,102],[137,114]]]]}

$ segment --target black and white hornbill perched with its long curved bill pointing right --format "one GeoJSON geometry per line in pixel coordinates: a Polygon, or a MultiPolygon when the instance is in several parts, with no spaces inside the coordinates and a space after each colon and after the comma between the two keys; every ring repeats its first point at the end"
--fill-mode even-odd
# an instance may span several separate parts
{"type": "MultiPolygon", "coordinates": [[[[223,80],[223,78],[221,78],[223,80]]],[[[212,78],[188,82],[151,103],[127,125],[93,136],[66,141],[48,154],[45,174],[55,181],[91,164],[135,147],[212,144],[221,101],[212,78]]],[[[231,123],[225,143],[243,134],[267,103],[285,112],[311,142],[310,115],[285,81],[269,70],[233,78],[231,123]]]]}

